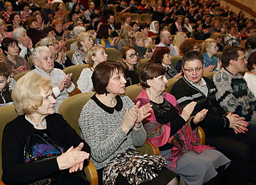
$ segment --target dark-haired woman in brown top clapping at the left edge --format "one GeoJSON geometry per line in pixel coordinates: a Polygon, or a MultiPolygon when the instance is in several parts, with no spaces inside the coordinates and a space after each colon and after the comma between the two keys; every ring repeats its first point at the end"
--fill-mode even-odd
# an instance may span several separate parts
{"type": "Polygon", "coordinates": [[[27,61],[23,57],[19,56],[19,46],[15,39],[4,38],[2,41],[2,50],[8,69],[14,76],[20,72],[30,70],[30,65],[27,61]]]}

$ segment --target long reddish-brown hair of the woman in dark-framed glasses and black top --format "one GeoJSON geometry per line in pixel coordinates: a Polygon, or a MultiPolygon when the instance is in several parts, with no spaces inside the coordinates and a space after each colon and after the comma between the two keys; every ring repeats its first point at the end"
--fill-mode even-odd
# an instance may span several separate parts
{"type": "MultiPolygon", "coordinates": [[[[128,65],[126,63],[124,63],[123,59],[126,59],[126,53],[128,50],[135,50],[135,48],[131,47],[131,46],[124,46],[121,48],[121,50],[119,51],[119,58],[118,58],[118,62],[123,65],[124,69],[127,70],[129,69],[128,65]]],[[[137,56],[137,64],[134,65],[134,69],[135,72],[139,75],[139,65],[141,64],[141,59],[139,58],[139,55],[137,56]]]]}

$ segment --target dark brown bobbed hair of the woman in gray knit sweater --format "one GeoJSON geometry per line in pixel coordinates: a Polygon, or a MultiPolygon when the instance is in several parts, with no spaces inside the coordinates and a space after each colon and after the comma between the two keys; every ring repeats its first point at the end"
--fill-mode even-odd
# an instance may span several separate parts
{"type": "Polygon", "coordinates": [[[92,73],[91,79],[94,89],[99,95],[108,94],[106,87],[109,83],[109,79],[114,73],[124,73],[124,67],[117,61],[107,60],[102,61],[98,64],[94,72],[92,73]]]}

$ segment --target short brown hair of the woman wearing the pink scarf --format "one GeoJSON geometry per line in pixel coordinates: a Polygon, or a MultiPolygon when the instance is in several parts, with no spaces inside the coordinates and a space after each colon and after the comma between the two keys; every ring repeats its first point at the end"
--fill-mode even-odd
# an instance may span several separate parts
{"type": "Polygon", "coordinates": [[[147,83],[148,79],[154,79],[161,75],[165,75],[166,68],[161,64],[157,63],[147,63],[141,69],[141,73],[139,74],[139,83],[143,88],[150,88],[147,83]]]}

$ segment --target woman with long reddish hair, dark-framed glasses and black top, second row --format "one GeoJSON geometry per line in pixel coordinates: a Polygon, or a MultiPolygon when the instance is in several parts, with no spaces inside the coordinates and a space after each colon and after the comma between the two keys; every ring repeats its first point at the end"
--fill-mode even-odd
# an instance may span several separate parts
{"type": "Polygon", "coordinates": [[[125,46],[119,51],[118,62],[125,69],[125,87],[139,83],[139,64],[138,53],[131,46],[125,46]]]}

